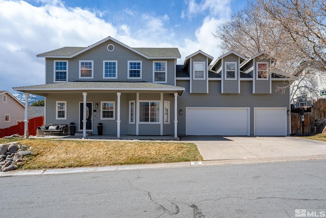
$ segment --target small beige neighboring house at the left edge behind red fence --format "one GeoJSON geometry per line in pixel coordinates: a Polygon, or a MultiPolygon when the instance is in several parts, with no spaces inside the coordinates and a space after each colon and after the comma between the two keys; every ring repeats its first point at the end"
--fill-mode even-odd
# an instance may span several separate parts
{"type": "Polygon", "coordinates": [[[25,106],[9,91],[0,91],[0,129],[22,122],[24,110],[25,106]]]}

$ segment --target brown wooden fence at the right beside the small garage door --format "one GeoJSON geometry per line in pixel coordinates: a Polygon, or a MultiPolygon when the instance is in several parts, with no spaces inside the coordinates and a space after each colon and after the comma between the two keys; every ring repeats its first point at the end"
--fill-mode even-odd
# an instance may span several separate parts
{"type": "MultiPolygon", "coordinates": [[[[326,99],[313,100],[311,112],[305,112],[305,133],[311,132],[315,119],[326,118],[326,99]]],[[[301,113],[291,113],[291,133],[302,134],[301,113]]]]}

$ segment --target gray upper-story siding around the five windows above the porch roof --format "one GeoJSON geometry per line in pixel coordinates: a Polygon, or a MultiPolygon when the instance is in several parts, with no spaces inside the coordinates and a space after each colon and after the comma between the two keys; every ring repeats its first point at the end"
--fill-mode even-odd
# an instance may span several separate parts
{"type": "MultiPolygon", "coordinates": [[[[46,58],[46,82],[53,83],[53,58],[46,58]]],[[[124,46],[113,41],[106,41],[97,45],[93,49],[82,53],[68,60],[68,79],[69,81],[127,81],[128,61],[142,61],[142,79],[129,79],[129,81],[153,82],[153,59],[145,57],[126,49],[124,46]],[[114,44],[115,50],[108,52],[106,46],[114,44]],[[79,60],[94,61],[94,78],[79,79],[79,60]],[[118,61],[118,79],[103,79],[103,60],[118,61]]],[[[167,61],[167,83],[174,85],[175,62],[174,59],[155,59],[155,61],[167,61]]]]}

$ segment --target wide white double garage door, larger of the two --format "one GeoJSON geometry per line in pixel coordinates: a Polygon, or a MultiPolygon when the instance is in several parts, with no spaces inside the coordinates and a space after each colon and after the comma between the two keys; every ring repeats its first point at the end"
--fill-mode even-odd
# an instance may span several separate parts
{"type": "Polygon", "coordinates": [[[186,135],[250,135],[249,108],[186,108],[186,135]]]}

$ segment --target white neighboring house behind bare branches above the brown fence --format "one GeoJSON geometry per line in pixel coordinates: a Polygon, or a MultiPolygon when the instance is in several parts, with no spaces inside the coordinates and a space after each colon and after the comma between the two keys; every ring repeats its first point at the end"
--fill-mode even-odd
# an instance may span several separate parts
{"type": "Polygon", "coordinates": [[[291,84],[291,97],[294,108],[311,106],[312,100],[326,98],[326,72],[313,67],[299,70],[291,84]]]}

